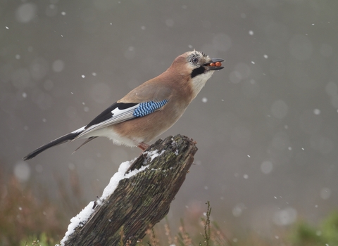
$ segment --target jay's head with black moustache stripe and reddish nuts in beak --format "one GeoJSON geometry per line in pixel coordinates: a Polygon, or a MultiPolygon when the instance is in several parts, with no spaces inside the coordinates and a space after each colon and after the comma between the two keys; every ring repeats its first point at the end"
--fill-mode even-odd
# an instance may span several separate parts
{"type": "Polygon", "coordinates": [[[187,78],[187,81],[192,86],[194,98],[206,84],[206,81],[213,75],[213,72],[224,68],[222,66],[223,61],[220,58],[209,58],[200,51],[188,51],[178,56],[169,70],[173,74],[187,78]]]}

